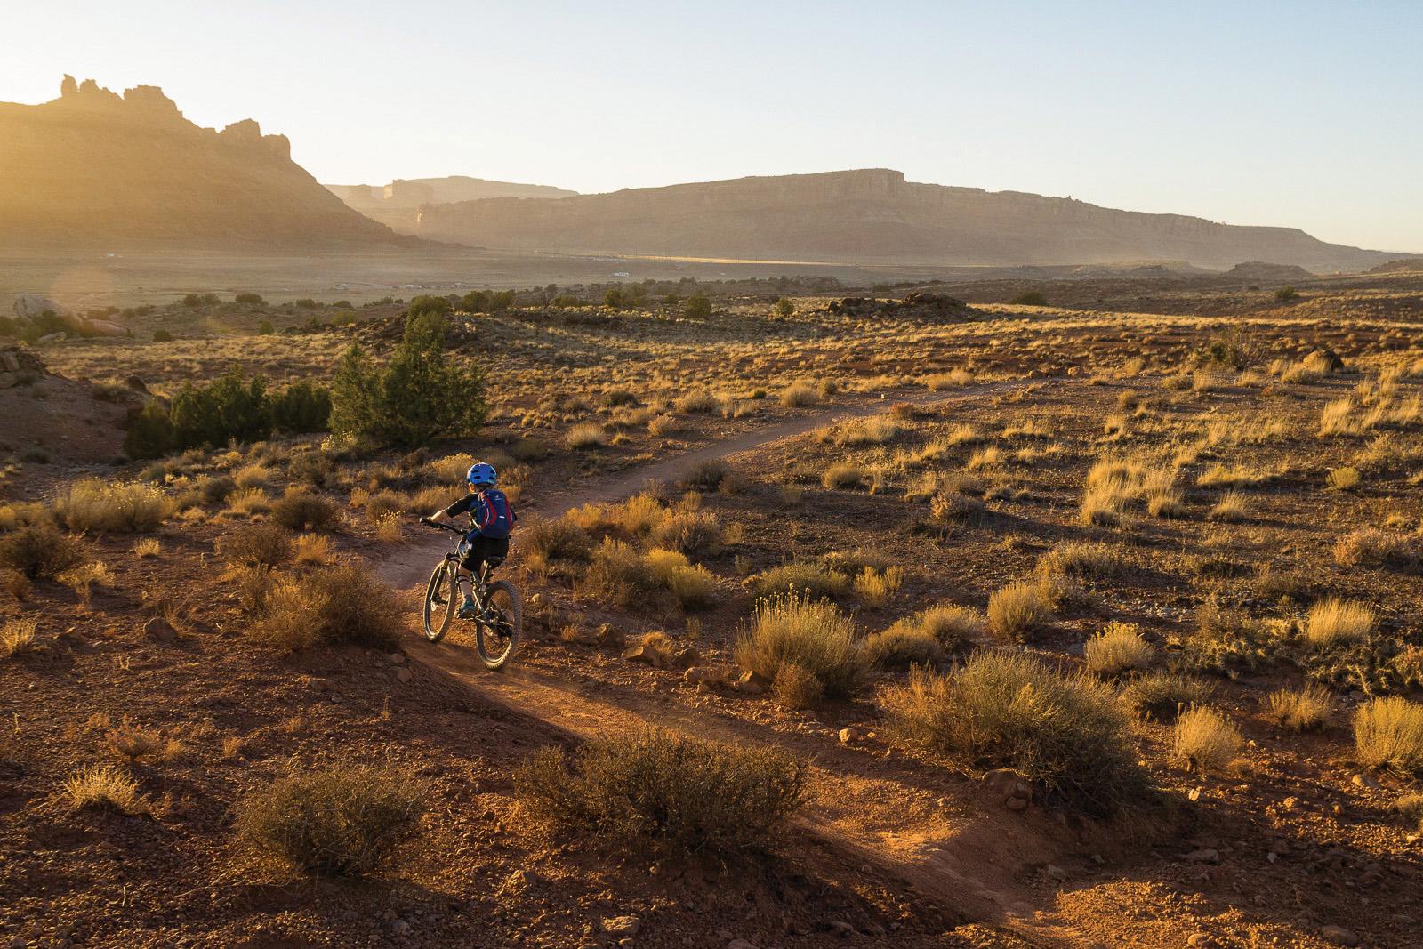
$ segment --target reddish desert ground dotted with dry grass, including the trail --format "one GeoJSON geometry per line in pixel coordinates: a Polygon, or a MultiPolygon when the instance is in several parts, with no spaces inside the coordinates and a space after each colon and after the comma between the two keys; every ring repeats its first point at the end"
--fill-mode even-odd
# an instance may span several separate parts
{"type": "Polygon", "coordinates": [[[414,290],[6,350],[0,938],[1417,945],[1423,275],[680,276],[457,299],[488,417],[398,451],[124,428],[414,290]],[[475,458],[499,672],[420,616],[475,458]]]}

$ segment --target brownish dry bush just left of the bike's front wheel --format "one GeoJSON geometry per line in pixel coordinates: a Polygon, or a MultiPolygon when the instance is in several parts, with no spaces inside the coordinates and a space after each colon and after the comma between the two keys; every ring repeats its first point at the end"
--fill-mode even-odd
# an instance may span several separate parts
{"type": "Polygon", "coordinates": [[[390,647],[404,629],[400,599],[359,563],[276,579],[249,627],[253,639],[292,652],[316,643],[390,647]]]}

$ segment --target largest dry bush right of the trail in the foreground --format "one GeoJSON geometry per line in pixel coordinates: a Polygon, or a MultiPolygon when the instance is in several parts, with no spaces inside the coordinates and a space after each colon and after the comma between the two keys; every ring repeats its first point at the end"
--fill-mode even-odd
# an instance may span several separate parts
{"type": "Polygon", "coordinates": [[[1009,767],[1093,815],[1144,802],[1130,720],[1111,691],[1022,654],[978,653],[948,674],[924,669],[879,693],[901,743],[963,768],[1009,767]]]}

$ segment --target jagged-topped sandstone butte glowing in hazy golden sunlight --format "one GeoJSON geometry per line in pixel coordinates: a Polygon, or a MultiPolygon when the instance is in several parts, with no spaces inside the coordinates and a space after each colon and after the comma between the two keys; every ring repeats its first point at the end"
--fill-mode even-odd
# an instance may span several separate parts
{"type": "Polygon", "coordinates": [[[43,105],[0,102],[0,246],[337,249],[410,243],[347,208],[245,120],[199,128],[151,85],[65,77],[43,105]]]}

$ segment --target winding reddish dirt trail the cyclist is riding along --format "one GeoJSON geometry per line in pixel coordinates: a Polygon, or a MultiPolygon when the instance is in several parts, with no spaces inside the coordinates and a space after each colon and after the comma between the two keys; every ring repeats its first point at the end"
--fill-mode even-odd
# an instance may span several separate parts
{"type": "MultiPolygon", "coordinates": [[[[1020,383],[970,386],[951,396],[915,401],[942,404],[1006,391],[1020,383]]],[[[743,435],[696,448],[650,465],[628,470],[578,491],[551,495],[541,505],[566,511],[591,501],[615,501],[636,494],[647,481],[673,481],[692,465],[730,458],[801,435],[835,421],[884,411],[888,401],[840,407],[766,425],[743,435]]],[[[435,536],[396,551],[379,565],[380,575],[398,588],[423,590],[431,565],[447,544],[435,536]]],[[[966,919],[999,925],[1043,946],[1094,946],[1070,932],[1052,912],[1050,896],[1017,879],[1029,865],[1040,865],[1072,847],[1069,834],[1046,820],[1023,818],[979,800],[966,787],[958,800],[942,790],[915,787],[914,777],[881,764],[865,748],[834,744],[824,733],[804,734],[761,726],[733,716],[683,704],[666,691],[616,689],[579,683],[515,664],[504,673],[487,672],[471,649],[453,643],[408,647],[413,657],[467,683],[484,699],[583,737],[620,733],[649,724],[739,743],[785,747],[815,761],[815,801],[801,829],[821,844],[857,857],[914,885],[953,908],[966,919]],[[888,773],[888,774],[885,774],[888,773]]]]}

